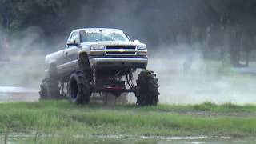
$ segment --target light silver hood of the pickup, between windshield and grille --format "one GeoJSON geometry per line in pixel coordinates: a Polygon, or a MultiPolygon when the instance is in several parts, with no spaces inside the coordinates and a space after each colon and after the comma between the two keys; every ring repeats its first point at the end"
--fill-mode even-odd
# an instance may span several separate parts
{"type": "Polygon", "coordinates": [[[82,46],[146,46],[140,42],[118,42],[118,41],[106,41],[106,42],[84,42],[82,46]]]}

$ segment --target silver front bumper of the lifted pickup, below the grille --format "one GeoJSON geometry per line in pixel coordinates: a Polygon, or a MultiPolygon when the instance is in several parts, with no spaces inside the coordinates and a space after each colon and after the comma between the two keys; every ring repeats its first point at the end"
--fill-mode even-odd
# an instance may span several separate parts
{"type": "Polygon", "coordinates": [[[90,56],[90,66],[92,68],[141,68],[146,69],[148,58],[145,57],[99,57],[90,56]]]}

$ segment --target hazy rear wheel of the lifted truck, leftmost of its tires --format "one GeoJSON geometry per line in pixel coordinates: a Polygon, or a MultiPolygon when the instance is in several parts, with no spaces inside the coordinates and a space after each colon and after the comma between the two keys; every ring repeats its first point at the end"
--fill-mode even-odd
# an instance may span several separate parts
{"type": "Polygon", "coordinates": [[[50,78],[42,80],[39,91],[40,100],[42,99],[59,99],[61,98],[58,81],[54,81],[50,78]]]}

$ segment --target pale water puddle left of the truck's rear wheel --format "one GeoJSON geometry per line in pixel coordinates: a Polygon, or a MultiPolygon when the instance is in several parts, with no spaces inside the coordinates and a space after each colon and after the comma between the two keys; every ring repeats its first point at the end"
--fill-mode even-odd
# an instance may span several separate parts
{"type": "Polygon", "coordinates": [[[38,102],[38,90],[15,87],[0,86],[0,102],[38,102]]]}

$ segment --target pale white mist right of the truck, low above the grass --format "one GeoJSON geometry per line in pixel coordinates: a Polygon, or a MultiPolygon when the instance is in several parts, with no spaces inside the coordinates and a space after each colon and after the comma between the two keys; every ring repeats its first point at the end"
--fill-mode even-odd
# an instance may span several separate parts
{"type": "Polygon", "coordinates": [[[151,55],[149,60],[148,69],[158,74],[161,103],[256,102],[254,75],[225,68],[221,61],[205,60],[202,51],[190,50],[189,46],[181,44],[175,47],[182,52],[161,50],[151,55]],[[187,60],[191,62],[185,70],[187,60]]]}

